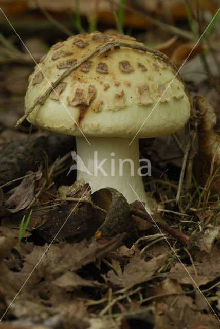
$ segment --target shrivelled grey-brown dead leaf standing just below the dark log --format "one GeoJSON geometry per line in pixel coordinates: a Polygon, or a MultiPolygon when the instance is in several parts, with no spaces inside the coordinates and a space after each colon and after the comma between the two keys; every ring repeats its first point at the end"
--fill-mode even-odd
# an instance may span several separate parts
{"type": "Polygon", "coordinates": [[[11,212],[17,212],[24,209],[31,202],[34,195],[35,181],[39,180],[42,176],[41,171],[35,173],[31,170],[26,172],[26,175],[33,174],[25,177],[21,184],[16,188],[16,191],[6,201],[6,206],[15,206],[15,209],[9,209],[11,212]]]}

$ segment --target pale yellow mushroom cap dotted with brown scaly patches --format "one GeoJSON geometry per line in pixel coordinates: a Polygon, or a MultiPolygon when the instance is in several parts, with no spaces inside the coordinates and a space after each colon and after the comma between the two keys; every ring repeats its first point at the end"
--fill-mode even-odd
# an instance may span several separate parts
{"type": "MultiPolygon", "coordinates": [[[[64,71],[109,41],[143,46],[130,36],[101,32],[58,42],[29,77],[25,111],[64,71]]],[[[143,125],[137,137],[156,137],[181,130],[190,116],[190,97],[177,69],[154,50],[112,47],[72,70],[55,90],[27,119],[64,134],[133,138],[143,125]]]]}

